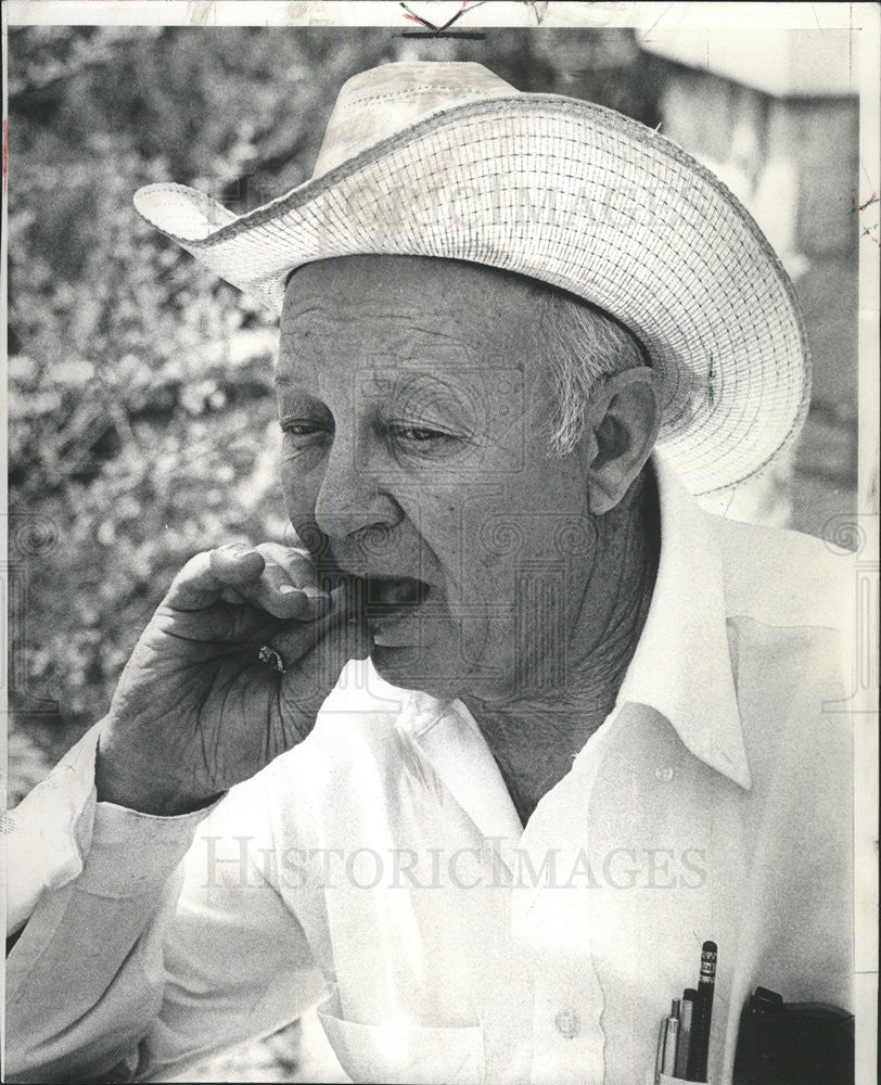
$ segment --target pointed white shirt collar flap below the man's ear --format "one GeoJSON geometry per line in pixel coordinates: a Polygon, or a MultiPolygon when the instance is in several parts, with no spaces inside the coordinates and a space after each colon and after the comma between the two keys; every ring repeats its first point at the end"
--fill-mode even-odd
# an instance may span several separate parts
{"type": "Polygon", "coordinates": [[[652,462],[661,558],[618,704],[635,701],[660,712],[695,757],[749,790],[718,542],[706,513],[663,456],[655,451],[652,462]]]}

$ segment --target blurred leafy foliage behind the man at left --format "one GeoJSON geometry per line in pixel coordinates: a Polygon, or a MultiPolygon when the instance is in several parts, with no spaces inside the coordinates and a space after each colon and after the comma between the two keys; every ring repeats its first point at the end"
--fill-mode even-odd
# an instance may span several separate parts
{"type": "Polygon", "coordinates": [[[627,31],[564,33],[575,66],[553,31],[11,28],[11,802],[104,714],[187,559],[285,527],[273,321],[148,226],[136,189],[265,203],[310,176],[340,86],[384,61],[480,60],[656,124],[627,31]]]}

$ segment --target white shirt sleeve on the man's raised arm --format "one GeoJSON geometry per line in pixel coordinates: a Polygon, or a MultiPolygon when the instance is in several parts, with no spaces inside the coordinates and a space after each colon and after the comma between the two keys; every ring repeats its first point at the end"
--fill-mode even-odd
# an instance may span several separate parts
{"type": "Polygon", "coordinates": [[[95,802],[99,732],[11,815],[10,1081],[167,1080],[323,990],[253,789],[169,818],[95,802]]]}

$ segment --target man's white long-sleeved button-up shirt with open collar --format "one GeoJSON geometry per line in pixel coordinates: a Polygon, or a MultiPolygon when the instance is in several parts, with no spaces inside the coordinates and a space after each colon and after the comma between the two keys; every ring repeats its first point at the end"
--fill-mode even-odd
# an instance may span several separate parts
{"type": "Polygon", "coordinates": [[[356,1081],[650,1082],[707,939],[715,1085],[756,984],[850,1007],[852,563],[655,463],[644,630],[525,829],[464,705],[369,664],[207,816],[97,803],[93,728],[13,815],[8,1078],[167,1080],[320,1000],[356,1081]]]}

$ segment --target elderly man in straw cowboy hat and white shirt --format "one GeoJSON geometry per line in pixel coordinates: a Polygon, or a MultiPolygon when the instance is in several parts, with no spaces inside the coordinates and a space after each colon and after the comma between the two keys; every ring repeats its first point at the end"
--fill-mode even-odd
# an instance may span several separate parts
{"type": "Polygon", "coordinates": [[[248,215],[137,202],[281,308],[297,540],[192,559],[20,809],[11,1080],[165,1080],[320,1001],[357,1081],[652,1081],[708,939],[717,1085],[756,984],[846,1005],[842,562],[693,496],[805,410],[743,208],[440,63],[349,80],[248,215]]]}

